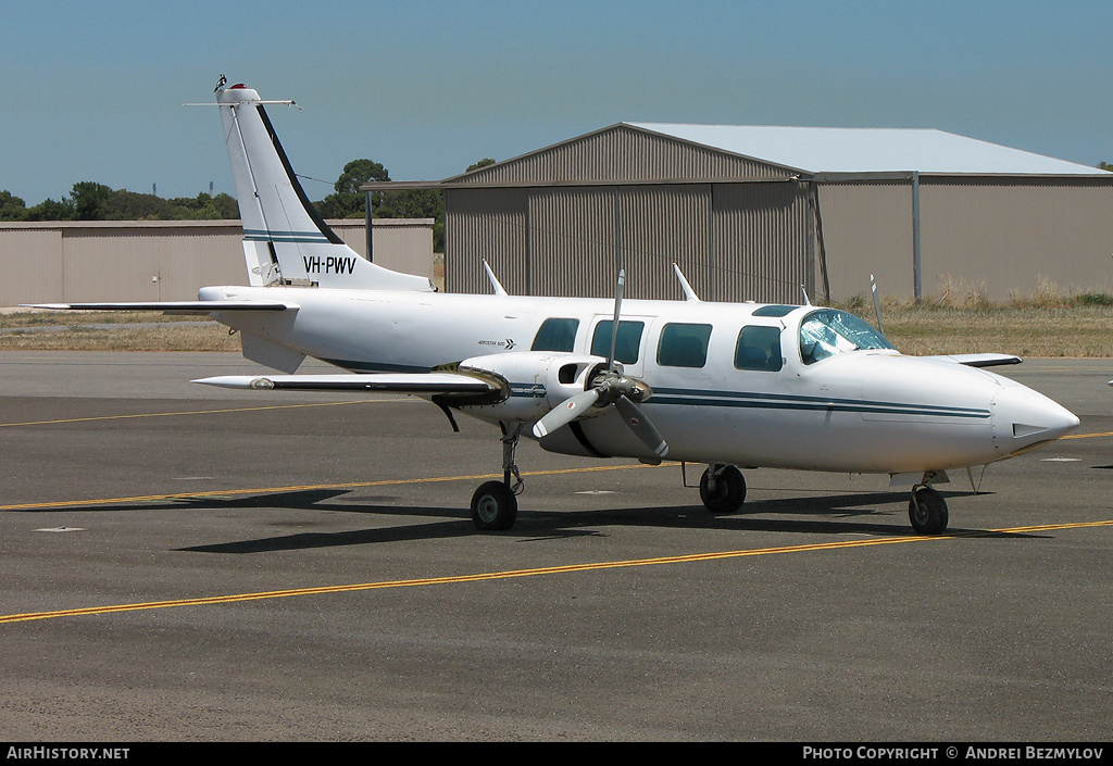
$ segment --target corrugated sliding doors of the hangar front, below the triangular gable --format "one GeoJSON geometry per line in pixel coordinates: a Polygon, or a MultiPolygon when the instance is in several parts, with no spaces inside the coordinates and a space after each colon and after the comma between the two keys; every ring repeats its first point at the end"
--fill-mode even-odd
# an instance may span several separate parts
{"type": "Polygon", "coordinates": [[[815,288],[807,194],[786,181],[453,189],[446,287],[490,291],[486,257],[513,294],[609,297],[621,248],[629,297],[681,299],[674,263],[705,299],[799,302],[815,288]]]}

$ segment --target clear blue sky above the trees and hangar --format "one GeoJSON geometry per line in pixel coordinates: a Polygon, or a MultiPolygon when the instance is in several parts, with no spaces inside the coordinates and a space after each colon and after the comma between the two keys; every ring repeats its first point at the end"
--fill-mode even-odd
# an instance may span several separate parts
{"type": "Polygon", "coordinates": [[[351,159],[437,179],[622,120],[939,128],[1113,161],[1113,2],[0,0],[0,189],[232,193],[219,75],[313,199],[351,159]]]}

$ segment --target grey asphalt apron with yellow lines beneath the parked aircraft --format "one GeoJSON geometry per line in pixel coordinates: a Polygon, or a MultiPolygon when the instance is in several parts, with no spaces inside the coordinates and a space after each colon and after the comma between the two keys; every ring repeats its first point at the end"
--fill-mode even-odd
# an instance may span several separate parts
{"type": "MultiPolygon", "coordinates": [[[[1113,360],[1003,369],[1081,429],[940,487],[519,451],[237,355],[0,354],[0,739],[1101,742],[1113,360]],[[701,467],[689,467],[688,484],[701,467]]],[[[303,367],[303,372],[308,367],[303,367]]]]}

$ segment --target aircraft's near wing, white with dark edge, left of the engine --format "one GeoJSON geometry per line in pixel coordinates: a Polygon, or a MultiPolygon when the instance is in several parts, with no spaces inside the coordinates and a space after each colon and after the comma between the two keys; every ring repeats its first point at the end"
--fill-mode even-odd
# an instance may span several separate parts
{"type": "Polygon", "coordinates": [[[254,391],[380,391],[398,394],[491,393],[498,383],[457,373],[365,373],[339,375],[219,375],[193,381],[254,391]]]}

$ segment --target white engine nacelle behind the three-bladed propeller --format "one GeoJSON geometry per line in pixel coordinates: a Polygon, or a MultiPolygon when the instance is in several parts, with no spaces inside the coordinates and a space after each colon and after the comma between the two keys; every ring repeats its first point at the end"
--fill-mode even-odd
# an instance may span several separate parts
{"type": "MultiPolygon", "coordinates": [[[[554,406],[585,391],[607,360],[556,351],[521,351],[466,359],[456,367],[505,381],[505,397],[496,403],[455,406],[484,420],[532,423],[554,406]]],[[[591,416],[588,413],[587,416],[591,416]]]]}

